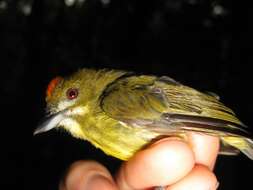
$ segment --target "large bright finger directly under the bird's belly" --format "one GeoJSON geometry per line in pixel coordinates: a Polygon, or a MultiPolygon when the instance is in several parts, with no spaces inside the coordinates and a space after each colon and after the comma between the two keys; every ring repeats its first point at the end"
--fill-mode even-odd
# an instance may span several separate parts
{"type": "Polygon", "coordinates": [[[116,181],[120,189],[144,189],[175,183],[194,167],[194,154],[178,139],[162,139],[124,163],[116,181]]]}

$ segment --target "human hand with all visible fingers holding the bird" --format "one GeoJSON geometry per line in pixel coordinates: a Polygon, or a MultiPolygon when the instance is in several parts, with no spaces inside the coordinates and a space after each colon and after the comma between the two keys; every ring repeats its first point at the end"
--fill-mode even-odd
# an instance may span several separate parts
{"type": "Polygon", "coordinates": [[[212,172],[219,151],[219,139],[188,133],[186,143],[164,138],[124,162],[113,178],[95,161],[78,161],[70,166],[60,190],[215,190],[212,172]]]}

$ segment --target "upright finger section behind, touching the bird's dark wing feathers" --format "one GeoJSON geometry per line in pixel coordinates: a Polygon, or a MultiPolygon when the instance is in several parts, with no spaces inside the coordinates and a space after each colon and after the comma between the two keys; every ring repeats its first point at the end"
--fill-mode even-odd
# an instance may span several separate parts
{"type": "Polygon", "coordinates": [[[188,133],[189,144],[195,155],[196,163],[213,170],[219,152],[219,138],[215,136],[188,133]]]}

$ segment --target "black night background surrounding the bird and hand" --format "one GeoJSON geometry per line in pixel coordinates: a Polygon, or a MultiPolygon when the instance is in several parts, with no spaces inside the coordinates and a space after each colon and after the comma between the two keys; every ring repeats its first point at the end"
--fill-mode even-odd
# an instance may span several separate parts
{"type": "MultiPolygon", "coordinates": [[[[79,159],[117,169],[119,160],[65,132],[32,135],[47,83],[82,67],[169,75],[213,91],[252,131],[252,13],[242,3],[0,0],[1,188],[57,189],[79,159]]],[[[251,189],[252,171],[244,155],[219,157],[219,189],[251,189]]]]}

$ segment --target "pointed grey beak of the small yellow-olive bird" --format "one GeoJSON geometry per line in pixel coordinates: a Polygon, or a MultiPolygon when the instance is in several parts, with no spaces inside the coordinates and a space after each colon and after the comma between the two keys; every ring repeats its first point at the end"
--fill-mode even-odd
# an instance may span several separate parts
{"type": "Polygon", "coordinates": [[[57,127],[59,123],[64,119],[64,113],[65,113],[64,111],[61,111],[46,117],[41,122],[41,124],[35,129],[33,135],[44,133],[57,127]]]}

